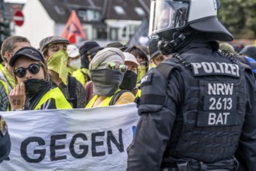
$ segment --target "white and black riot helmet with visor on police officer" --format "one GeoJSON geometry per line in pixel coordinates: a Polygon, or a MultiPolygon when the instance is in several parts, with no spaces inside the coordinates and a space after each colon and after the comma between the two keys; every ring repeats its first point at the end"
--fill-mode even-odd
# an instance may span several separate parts
{"type": "Polygon", "coordinates": [[[206,33],[208,40],[232,41],[233,36],[217,19],[219,8],[219,0],[152,0],[149,37],[173,40],[180,36],[177,32],[192,28],[206,33]]]}

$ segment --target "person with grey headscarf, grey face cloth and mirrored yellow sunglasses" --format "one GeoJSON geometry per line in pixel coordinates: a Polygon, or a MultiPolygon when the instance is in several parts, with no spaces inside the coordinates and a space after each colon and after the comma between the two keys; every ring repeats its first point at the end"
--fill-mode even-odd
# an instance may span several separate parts
{"type": "Polygon", "coordinates": [[[111,99],[121,91],[119,86],[127,71],[124,65],[124,54],[115,47],[107,47],[99,51],[89,64],[89,73],[93,81],[93,98],[90,99],[86,108],[97,106],[110,106],[125,103],[132,103],[135,96],[126,91],[118,96],[111,104],[111,99]]]}

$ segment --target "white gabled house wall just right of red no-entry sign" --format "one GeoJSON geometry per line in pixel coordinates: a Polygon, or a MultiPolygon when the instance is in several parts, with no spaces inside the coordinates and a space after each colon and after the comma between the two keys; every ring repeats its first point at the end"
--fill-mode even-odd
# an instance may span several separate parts
{"type": "Polygon", "coordinates": [[[33,47],[38,48],[40,40],[55,34],[54,20],[50,18],[39,1],[27,0],[23,7],[23,15],[23,26],[16,26],[15,33],[28,38],[33,47]]]}

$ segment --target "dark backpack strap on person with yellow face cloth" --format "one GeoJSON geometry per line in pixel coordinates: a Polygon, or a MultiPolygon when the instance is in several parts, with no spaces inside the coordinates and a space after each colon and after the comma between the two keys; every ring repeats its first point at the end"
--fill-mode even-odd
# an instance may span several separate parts
{"type": "Polygon", "coordinates": [[[76,89],[76,79],[75,77],[72,77],[68,75],[68,94],[69,94],[69,99],[68,102],[72,103],[73,108],[77,108],[77,97],[75,93],[76,89]]]}

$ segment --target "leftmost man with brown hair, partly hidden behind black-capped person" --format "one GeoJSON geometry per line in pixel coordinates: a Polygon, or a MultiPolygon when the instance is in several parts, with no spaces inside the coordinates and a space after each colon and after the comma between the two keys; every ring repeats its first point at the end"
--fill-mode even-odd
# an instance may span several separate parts
{"type": "Polygon", "coordinates": [[[30,47],[30,40],[26,37],[12,36],[5,39],[2,43],[1,56],[5,61],[5,67],[0,72],[0,79],[6,83],[9,91],[16,86],[15,77],[12,72],[12,67],[9,66],[9,61],[13,54],[21,47],[30,47]]]}

